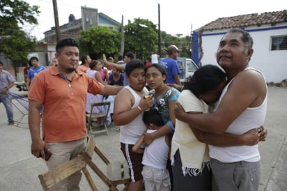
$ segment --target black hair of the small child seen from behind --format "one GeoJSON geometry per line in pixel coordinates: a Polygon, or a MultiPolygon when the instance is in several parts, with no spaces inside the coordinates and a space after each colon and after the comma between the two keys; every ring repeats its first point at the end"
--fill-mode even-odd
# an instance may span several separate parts
{"type": "Polygon", "coordinates": [[[153,123],[157,127],[162,127],[164,125],[162,116],[157,111],[157,109],[149,109],[143,112],[143,123],[145,123],[146,125],[153,123]]]}

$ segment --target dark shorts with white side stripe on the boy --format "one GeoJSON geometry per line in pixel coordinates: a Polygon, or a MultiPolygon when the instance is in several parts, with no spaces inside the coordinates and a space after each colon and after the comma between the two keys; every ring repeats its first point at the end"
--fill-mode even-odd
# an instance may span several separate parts
{"type": "Polygon", "coordinates": [[[143,180],[141,171],[143,170],[143,165],[141,161],[143,160],[143,154],[132,152],[132,144],[121,143],[121,151],[127,160],[127,165],[130,169],[130,178],[132,182],[137,182],[143,180]]]}

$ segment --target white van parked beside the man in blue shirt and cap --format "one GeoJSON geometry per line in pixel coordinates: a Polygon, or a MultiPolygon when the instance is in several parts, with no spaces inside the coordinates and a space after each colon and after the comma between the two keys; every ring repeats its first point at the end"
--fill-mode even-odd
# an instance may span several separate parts
{"type": "Polygon", "coordinates": [[[185,78],[194,75],[194,72],[199,68],[192,59],[178,57],[178,68],[180,69],[180,82],[185,82],[185,78]]]}

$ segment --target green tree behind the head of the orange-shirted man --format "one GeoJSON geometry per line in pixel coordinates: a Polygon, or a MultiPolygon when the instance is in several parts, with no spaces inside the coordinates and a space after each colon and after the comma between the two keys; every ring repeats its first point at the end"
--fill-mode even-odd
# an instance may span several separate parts
{"type": "Polygon", "coordinates": [[[121,33],[109,29],[107,26],[93,26],[86,31],[80,31],[80,52],[90,55],[93,59],[102,54],[118,54],[121,47],[121,33]]]}

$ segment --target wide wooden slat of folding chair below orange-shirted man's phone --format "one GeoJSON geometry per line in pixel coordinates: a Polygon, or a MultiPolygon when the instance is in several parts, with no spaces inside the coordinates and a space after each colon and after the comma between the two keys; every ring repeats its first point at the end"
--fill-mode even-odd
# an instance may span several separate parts
{"type": "Polygon", "coordinates": [[[45,174],[40,174],[38,177],[42,187],[44,185],[43,189],[45,188],[47,190],[47,188],[51,188],[55,183],[63,181],[63,179],[75,174],[84,167],[86,167],[84,157],[79,155],[76,158],[63,163],[62,165],[59,165],[59,167],[47,171],[45,174]]]}

